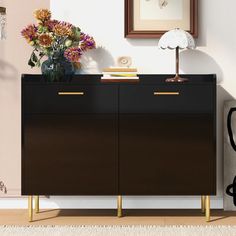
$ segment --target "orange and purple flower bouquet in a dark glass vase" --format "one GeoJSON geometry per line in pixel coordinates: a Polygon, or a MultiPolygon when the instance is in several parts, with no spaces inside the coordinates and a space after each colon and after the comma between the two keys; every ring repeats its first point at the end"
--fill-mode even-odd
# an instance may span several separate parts
{"type": "Polygon", "coordinates": [[[33,47],[28,65],[41,66],[42,73],[50,81],[61,81],[73,75],[82,54],[96,47],[93,37],[68,22],[52,20],[47,9],[36,10],[34,16],[38,24],[30,24],[21,31],[33,47]],[[47,60],[41,64],[44,57],[47,60]]]}

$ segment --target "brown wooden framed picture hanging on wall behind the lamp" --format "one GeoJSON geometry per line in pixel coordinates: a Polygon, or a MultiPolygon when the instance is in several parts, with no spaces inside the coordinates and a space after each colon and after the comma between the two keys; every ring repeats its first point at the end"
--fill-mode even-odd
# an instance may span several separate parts
{"type": "Polygon", "coordinates": [[[181,28],[198,35],[198,0],[125,0],[125,37],[160,38],[181,28]]]}

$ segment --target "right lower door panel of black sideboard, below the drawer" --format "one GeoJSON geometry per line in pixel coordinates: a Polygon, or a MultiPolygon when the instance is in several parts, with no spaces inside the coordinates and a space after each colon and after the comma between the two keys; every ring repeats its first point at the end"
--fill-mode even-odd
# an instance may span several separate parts
{"type": "Polygon", "coordinates": [[[121,114],[119,134],[121,195],[216,192],[209,115],[121,114]]]}

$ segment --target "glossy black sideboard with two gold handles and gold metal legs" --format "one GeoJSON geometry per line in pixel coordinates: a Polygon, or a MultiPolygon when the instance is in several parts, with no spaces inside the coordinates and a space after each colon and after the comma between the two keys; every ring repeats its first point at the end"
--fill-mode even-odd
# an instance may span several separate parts
{"type": "MultiPolygon", "coordinates": [[[[216,194],[216,78],[22,75],[22,195],[216,194]]],[[[38,197],[36,198],[38,206],[38,197]]],[[[32,209],[30,208],[32,218],[32,209]]]]}

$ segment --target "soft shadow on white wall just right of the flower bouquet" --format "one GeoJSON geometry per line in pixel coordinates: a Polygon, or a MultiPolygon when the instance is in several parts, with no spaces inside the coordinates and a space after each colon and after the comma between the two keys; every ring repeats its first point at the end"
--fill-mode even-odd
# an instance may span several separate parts
{"type": "Polygon", "coordinates": [[[81,69],[77,71],[77,74],[101,73],[104,68],[114,65],[115,60],[111,53],[103,47],[98,47],[94,50],[89,50],[83,55],[81,69]]]}

